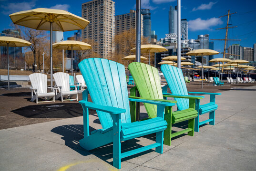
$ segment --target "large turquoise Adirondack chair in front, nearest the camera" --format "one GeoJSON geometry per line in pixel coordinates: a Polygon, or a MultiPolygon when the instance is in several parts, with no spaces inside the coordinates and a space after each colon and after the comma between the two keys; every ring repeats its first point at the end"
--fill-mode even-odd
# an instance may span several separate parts
{"type": "Polygon", "coordinates": [[[128,98],[125,69],[122,64],[102,58],[88,58],[79,63],[79,68],[87,85],[83,91],[83,100],[79,101],[83,108],[84,138],[80,145],[92,150],[113,142],[113,166],[120,169],[121,159],[127,156],[155,148],[163,152],[163,136],[166,129],[164,121],[165,106],[173,103],[146,99],[128,98]],[[88,93],[92,102],[88,102],[88,93]],[[132,110],[135,102],[157,105],[157,117],[141,122],[131,122],[129,101],[132,110]],[[97,111],[102,129],[89,133],[88,108],[97,111]],[[156,133],[155,143],[121,153],[121,142],[143,135],[156,133]]]}

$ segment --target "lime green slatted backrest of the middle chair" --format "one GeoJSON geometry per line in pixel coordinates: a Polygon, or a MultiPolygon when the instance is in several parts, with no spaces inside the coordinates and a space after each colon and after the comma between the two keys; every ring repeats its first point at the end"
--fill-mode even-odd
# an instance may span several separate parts
{"type": "MultiPolygon", "coordinates": [[[[139,62],[128,66],[143,98],[164,99],[157,68],[139,62]]],[[[156,117],[156,105],[144,104],[150,118],[156,117]]]]}

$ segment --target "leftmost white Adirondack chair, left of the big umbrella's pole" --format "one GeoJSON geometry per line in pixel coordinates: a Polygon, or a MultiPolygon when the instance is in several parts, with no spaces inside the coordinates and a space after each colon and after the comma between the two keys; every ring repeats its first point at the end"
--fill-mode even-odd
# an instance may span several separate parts
{"type": "Polygon", "coordinates": [[[31,102],[36,101],[36,103],[42,102],[55,102],[55,93],[47,92],[47,88],[55,89],[53,87],[47,86],[47,76],[45,74],[34,73],[29,75],[31,81],[31,102]],[[34,95],[33,95],[34,92],[34,95]],[[39,97],[44,97],[45,100],[51,99],[51,101],[38,101],[39,97]]]}

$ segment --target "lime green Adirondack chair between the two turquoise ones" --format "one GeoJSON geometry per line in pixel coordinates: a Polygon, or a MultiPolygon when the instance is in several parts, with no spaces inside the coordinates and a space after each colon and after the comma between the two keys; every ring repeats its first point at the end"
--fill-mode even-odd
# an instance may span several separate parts
{"type": "MultiPolygon", "coordinates": [[[[158,75],[158,70],[153,67],[139,62],[133,62],[129,66],[136,86],[130,89],[131,95],[135,95],[135,91],[138,90],[140,96],[145,99],[157,99],[159,101],[164,100],[164,97],[170,97],[170,95],[163,95],[158,75]]],[[[184,79],[183,79],[184,80],[184,79]]],[[[174,96],[172,96],[174,97],[174,96]]],[[[202,99],[202,96],[175,96],[180,98],[189,98],[189,108],[172,112],[170,109],[166,109],[165,120],[168,123],[167,129],[164,131],[164,144],[171,145],[171,138],[187,133],[194,136],[194,124],[195,117],[197,117],[197,111],[195,110],[195,100],[202,99]],[[180,132],[172,133],[172,124],[179,123],[188,120],[188,128],[180,132]]],[[[167,101],[173,102],[173,101],[167,101]]],[[[176,101],[175,101],[176,102],[176,101]]],[[[156,117],[156,106],[152,104],[144,104],[149,118],[156,117]]],[[[132,121],[135,121],[135,113],[131,113],[132,121]]]]}

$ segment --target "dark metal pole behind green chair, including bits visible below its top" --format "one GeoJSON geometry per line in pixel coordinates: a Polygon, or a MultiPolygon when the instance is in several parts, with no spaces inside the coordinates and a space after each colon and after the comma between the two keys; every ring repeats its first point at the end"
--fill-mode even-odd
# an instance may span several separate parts
{"type": "MultiPolygon", "coordinates": [[[[136,0],[136,62],[141,62],[141,0],[136,0]]],[[[136,91],[139,97],[139,91],[136,91]]],[[[136,102],[136,121],[140,120],[140,103],[136,102]]]]}

